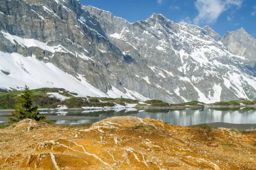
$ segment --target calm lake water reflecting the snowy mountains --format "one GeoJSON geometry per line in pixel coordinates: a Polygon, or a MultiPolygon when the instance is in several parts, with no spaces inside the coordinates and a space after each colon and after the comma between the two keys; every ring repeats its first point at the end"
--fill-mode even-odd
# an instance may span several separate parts
{"type": "MultiPolygon", "coordinates": [[[[214,109],[204,110],[140,110],[134,108],[119,111],[85,111],[77,110],[40,110],[47,116],[47,119],[52,120],[57,125],[78,125],[91,124],[108,117],[115,116],[134,116],[139,118],[161,119],[163,122],[172,125],[191,126],[198,124],[211,124],[223,127],[223,123],[228,124],[249,124],[256,128],[256,111],[219,111],[214,109]],[[222,124],[216,124],[222,123],[222,124]]],[[[0,124],[7,121],[7,117],[11,113],[0,110],[0,124]]],[[[225,127],[225,126],[224,126],[225,127]]],[[[239,127],[239,126],[238,126],[239,127]]],[[[248,127],[248,126],[247,126],[248,127]]]]}

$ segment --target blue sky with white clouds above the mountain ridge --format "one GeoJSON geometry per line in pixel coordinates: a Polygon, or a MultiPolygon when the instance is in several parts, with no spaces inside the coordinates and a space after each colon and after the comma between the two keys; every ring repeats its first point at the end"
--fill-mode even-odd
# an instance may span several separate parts
{"type": "Polygon", "coordinates": [[[174,22],[209,25],[221,36],[243,27],[256,38],[256,0],[80,0],[129,22],[161,13],[174,22]]]}

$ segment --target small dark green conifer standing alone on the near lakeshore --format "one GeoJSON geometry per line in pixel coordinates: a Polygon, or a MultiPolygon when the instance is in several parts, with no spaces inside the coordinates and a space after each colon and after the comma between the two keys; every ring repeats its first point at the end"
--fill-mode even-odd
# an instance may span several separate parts
{"type": "Polygon", "coordinates": [[[14,118],[8,117],[9,123],[19,122],[20,120],[27,118],[36,121],[45,119],[45,116],[42,116],[37,110],[38,106],[33,105],[32,91],[29,90],[27,85],[25,85],[25,89],[21,96],[16,97],[15,100],[15,110],[12,112],[14,118]]]}

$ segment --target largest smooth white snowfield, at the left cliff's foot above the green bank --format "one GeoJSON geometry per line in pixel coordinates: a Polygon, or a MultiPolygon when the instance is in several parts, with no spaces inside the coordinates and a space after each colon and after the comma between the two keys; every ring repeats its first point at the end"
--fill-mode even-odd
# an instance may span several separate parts
{"type": "Polygon", "coordinates": [[[82,75],[78,75],[78,78],[81,79],[79,81],[52,63],[37,60],[34,55],[23,57],[18,53],[10,54],[0,51],[0,57],[0,68],[10,71],[9,75],[0,72],[1,87],[17,89],[17,87],[24,87],[27,84],[31,89],[43,87],[65,88],[79,94],[78,97],[108,97],[108,95],[90,85],[82,75]]]}

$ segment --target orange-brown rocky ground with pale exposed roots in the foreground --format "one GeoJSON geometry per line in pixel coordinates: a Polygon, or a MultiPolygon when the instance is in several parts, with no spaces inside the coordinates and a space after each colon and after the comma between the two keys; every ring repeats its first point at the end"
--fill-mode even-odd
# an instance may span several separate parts
{"type": "Polygon", "coordinates": [[[92,126],[23,120],[0,129],[2,169],[256,169],[255,132],[113,117],[92,126]]]}

